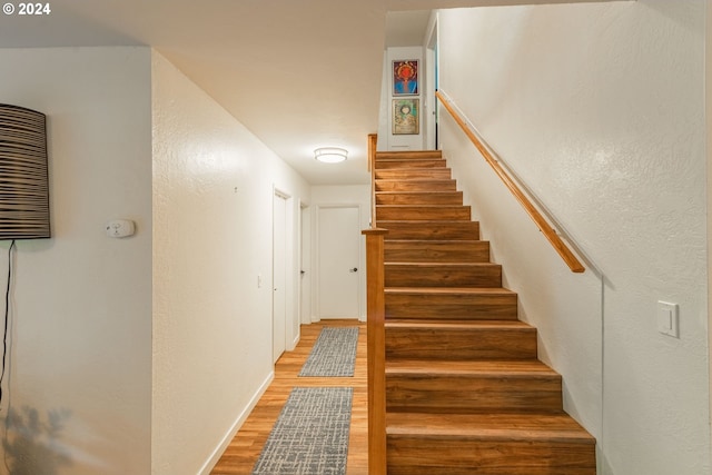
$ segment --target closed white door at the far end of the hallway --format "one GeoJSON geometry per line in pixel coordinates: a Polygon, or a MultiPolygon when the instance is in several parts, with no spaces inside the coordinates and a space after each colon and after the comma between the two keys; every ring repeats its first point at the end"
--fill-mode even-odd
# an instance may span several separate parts
{"type": "Polygon", "coordinates": [[[360,225],[358,207],[318,214],[319,318],[358,318],[360,225]]]}

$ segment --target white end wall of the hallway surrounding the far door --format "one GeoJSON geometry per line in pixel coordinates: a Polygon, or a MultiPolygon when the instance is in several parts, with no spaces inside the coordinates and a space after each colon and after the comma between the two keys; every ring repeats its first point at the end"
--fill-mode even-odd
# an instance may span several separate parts
{"type": "MultiPolygon", "coordinates": [[[[360,227],[362,229],[367,229],[370,227],[370,185],[350,185],[350,186],[314,186],[312,187],[312,236],[317,236],[317,226],[318,226],[318,208],[319,206],[335,206],[335,205],[357,205],[359,207],[359,217],[360,217],[360,227]]],[[[359,273],[360,283],[359,283],[359,308],[360,308],[360,320],[366,320],[366,240],[362,236],[362,255],[359,256],[359,265],[358,268],[364,271],[359,273]]],[[[318,249],[317,243],[315,239],[312,240],[312,269],[313,274],[318,273],[317,259],[318,259],[318,249]]],[[[319,288],[316,285],[318,283],[318,276],[313,275],[313,294],[312,301],[314,305],[312,306],[312,311],[316,311],[316,303],[318,303],[319,288]]],[[[312,321],[318,321],[318,315],[312,315],[312,321]]]]}

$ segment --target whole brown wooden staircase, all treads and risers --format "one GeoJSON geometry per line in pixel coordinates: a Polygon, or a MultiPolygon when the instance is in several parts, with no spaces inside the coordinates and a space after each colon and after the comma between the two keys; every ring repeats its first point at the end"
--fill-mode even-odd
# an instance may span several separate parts
{"type": "Polygon", "coordinates": [[[439,151],[378,152],[388,475],[595,475],[439,151]]]}

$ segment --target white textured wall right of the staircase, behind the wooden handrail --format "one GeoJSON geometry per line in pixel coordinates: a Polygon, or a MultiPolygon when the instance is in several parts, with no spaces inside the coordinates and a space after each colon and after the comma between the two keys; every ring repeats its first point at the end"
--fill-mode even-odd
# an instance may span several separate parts
{"type": "Polygon", "coordinates": [[[441,11],[442,89],[605,274],[596,293],[594,273],[561,270],[487,172],[462,165],[482,159],[443,120],[443,148],[564,375],[566,407],[597,437],[602,474],[710,468],[703,6],[441,11]],[[657,333],[657,300],[680,305],[680,339],[657,333]]]}

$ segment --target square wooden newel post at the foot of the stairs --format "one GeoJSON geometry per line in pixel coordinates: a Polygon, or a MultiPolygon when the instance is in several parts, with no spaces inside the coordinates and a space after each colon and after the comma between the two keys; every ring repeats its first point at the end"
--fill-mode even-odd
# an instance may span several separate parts
{"type": "Polygon", "coordinates": [[[363,230],[366,236],[366,299],[368,342],[368,474],[386,475],[386,300],[384,237],[386,229],[363,230]]]}

